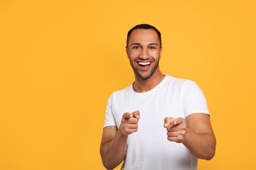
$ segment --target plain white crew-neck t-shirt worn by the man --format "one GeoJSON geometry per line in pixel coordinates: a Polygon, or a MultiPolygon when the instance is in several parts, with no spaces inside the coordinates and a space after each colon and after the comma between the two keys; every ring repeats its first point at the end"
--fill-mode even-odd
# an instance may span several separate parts
{"type": "Polygon", "coordinates": [[[205,97],[191,80],[165,78],[152,90],[137,93],[133,85],[112,93],[106,107],[106,126],[121,124],[125,112],[140,111],[138,131],[128,136],[122,169],[197,169],[197,158],[181,143],[167,140],[165,117],[209,114],[205,97]]]}

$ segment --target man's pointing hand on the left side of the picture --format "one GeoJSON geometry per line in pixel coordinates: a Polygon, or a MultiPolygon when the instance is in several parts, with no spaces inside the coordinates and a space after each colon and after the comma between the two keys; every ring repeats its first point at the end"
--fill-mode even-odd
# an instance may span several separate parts
{"type": "Polygon", "coordinates": [[[125,112],[123,114],[120,130],[123,135],[130,135],[138,130],[138,122],[140,119],[140,112],[137,110],[135,112],[129,113],[125,112]]]}

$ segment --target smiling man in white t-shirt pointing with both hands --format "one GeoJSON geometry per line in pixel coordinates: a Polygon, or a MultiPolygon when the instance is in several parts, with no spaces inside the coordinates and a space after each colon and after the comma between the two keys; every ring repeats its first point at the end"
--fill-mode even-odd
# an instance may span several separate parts
{"type": "Polygon", "coordinates": [[[126,53],[135,82],[112,93],[100,146],[106,169],[197,169],[211,160],[216,140],[205,97],[191,80],[163,75],[161,33],[148,24],[133,27],[126,53]]]}

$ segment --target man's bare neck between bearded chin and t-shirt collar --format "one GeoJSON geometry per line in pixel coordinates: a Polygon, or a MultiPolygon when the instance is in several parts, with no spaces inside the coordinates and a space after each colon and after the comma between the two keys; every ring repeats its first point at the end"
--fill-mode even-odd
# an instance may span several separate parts
{"type": "Polygon", "coordinates": [[[135,75],[133,90],[137,93],[148,92],[149,90],[152,90],[158,86],[163,78],[165,78],[165,75],[163,75],[160,71],[156,71],[152,76],[150,76],[150,78],[147,78],[146,80],[135,75]]]}

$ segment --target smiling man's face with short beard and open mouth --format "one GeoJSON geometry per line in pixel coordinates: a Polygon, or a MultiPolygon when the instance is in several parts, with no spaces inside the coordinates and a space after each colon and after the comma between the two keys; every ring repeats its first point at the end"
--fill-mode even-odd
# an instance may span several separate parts
{"type": "Polygon", "coordinates": [[[159,71],[160,41],[153,29],[135,29],[126,47],[127,56],[137,78],[146,80],[159,71]]]}

